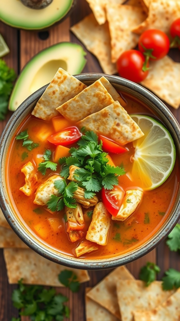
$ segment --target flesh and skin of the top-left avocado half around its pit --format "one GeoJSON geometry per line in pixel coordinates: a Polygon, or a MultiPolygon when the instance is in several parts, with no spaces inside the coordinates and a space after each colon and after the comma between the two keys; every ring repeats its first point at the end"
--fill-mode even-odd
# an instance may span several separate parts
{"type": "Polygon", "coordinates": [[[53,0],[43,9],[31,9],[20,0],[0,0],[0,20],[20,29],[47,28],[63,19],[75,5],[74,0],[53,0]]]}

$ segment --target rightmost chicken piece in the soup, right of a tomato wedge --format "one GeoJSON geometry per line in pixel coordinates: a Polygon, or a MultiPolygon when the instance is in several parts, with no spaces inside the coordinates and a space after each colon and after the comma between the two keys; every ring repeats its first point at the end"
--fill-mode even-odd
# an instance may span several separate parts
{"type": "Polygon", "coordinates": [[[140,189],[128,189],[124,195],[122,205],[117,216],[112,216],[112,220],[124,221],[137,208],[143,198],[143,191],[140,189]]]}

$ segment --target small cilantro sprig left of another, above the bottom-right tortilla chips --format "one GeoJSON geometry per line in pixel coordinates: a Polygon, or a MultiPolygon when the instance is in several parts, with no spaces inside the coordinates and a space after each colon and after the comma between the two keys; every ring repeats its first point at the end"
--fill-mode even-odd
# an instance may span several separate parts
{"type": "Polygon", "coordinates": [[[160,267],[155,263],[147,262],[139,273],[139,279],[144,281],[146,286],[150,285],[151,282],[156,280],[157,273],[160,272],[160,267]]]}

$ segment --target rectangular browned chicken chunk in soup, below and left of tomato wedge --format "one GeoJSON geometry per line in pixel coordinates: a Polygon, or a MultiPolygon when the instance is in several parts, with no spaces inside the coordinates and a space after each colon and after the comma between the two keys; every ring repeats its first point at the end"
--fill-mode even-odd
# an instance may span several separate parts
{"type": "Polygon", "coordinates": [[[88,228],[86,239],[99,245],[106,245],[110,230],[111,214],[102,202],[94,207],[91,224],[88,228]]]}

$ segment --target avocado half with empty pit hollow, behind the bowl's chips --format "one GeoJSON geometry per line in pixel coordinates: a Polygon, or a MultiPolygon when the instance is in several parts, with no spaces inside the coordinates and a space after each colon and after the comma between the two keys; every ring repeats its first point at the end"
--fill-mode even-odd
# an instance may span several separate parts
{"type": "Polygon", "coordinates": [[[86,64],[85,55],[80,45],[71,42],[61,42],[40,51],[29,60],[17,78],[9,110],[16,110],[33,92],[51,82],[58,68],[71,75],[80,74],[86,64]]]}

